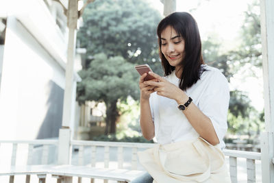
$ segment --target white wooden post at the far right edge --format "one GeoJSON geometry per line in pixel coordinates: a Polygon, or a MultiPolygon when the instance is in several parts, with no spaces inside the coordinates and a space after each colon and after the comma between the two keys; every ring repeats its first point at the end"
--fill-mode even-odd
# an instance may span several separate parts
{"type": "Polygon", "coordinates": [[[261,134],[262,182],[274,182],[274,1],[260,0],[262,66],[264,73],[264,119],[261,134]]]}

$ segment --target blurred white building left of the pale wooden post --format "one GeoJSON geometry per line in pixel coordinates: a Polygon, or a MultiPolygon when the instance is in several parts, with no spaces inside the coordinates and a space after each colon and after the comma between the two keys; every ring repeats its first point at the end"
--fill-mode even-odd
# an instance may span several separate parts
{"type": "MultiPolygon", "coordinates": [[[[0,22],[0,139],[58,138],[67,50],[62,6],[0,0],[0,22]]],[[[74,88],[77,80],[75,73],[74,88]]]]}

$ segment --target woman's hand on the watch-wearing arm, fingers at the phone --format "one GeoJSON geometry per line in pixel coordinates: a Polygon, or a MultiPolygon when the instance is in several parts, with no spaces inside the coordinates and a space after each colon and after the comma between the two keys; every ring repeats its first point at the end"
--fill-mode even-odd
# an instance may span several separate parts
{"type": "Polygon", "coordinates": [[[188,99],[186,93],[183,90],[172,84],[171,82],[165,80],[160,75],[149,72],[149,75],[155,77],[155,80],[149,80],[144,82],[148,86],[153,86],[153,90],[157,92],[158,95],[167,97],[169,99],[175,99],[178,102],[188,99]]]}

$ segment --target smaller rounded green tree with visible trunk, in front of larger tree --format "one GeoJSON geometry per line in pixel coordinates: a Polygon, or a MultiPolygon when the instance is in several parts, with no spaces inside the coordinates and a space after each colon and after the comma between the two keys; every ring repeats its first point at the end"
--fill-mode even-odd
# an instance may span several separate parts
{"type": "Polygon", "coordinates": [[[77,101],[103,101],[106,105],[105,134],[116,132],[119,111],[118,99],[126,101],[128,96],[138,99],[138,73],[134,65],[121,56],[108,58],[104,53],[94,56],[88,69],[79,71],[82,82],[77,85],[77,101]],[[110,130],[110,131],[109,131],[110,130]]]}

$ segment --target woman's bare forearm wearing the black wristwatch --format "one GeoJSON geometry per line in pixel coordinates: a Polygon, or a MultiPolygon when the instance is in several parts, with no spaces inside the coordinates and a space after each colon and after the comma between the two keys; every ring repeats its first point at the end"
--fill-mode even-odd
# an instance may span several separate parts
{"type": "MultiPolygon", "coordinates": [[[[184,92],[182,91],[182,93],[184,92]]],[[[185,93],[175,99],[178,104],[186,103],[187,100],[188,96],[185,93]]],[[[199,110],[195,103],[190,103],[188,108],[182,112],[184,112],[189,123],[202,138],[206,139],[212,145],[219,144],[219,138],[216,135],[211,120],[199,110]]]]}

